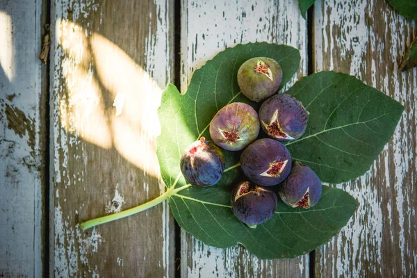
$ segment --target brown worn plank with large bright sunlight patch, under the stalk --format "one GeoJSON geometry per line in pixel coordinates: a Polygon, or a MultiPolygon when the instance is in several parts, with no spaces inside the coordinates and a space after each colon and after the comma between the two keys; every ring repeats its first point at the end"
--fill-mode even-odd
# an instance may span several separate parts
{"type": "Polygon", "coordinates": [[[55,277],[173,276],[167,203],[87,231],[79,227],[163,191],[156,111],[173,70],[172,7],[170,0],[53,4],[55,277]]]}

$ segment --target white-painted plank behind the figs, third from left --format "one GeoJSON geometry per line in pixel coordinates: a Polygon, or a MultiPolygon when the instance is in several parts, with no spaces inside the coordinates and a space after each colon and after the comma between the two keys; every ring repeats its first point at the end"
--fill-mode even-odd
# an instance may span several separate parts
{"type": "MultiPolygon", "coordinates": [[[[296,1],[181,1],[181,92],[193,71],[226,47],[254,41],[300,49],[306,74],[306,21],[296,1]]],[[[182,231],[181,277],[306,277],[309,256],[263,261],[243,247],[221,250],[182,231]]]]}

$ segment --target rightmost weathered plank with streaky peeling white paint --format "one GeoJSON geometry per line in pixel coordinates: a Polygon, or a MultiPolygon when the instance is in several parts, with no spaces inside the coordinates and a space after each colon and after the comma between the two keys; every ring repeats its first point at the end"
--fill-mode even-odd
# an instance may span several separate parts
{"type": "Polygon", "coordinates": [[[315,70],[357,76],[405,105],[393,139],[363,177],[340,185],[360,203],[341,234],[316,252],[316,275],[415,277],[417,69],[398,72],[416,35],[386,1],[317,1],[315,70]]]}

